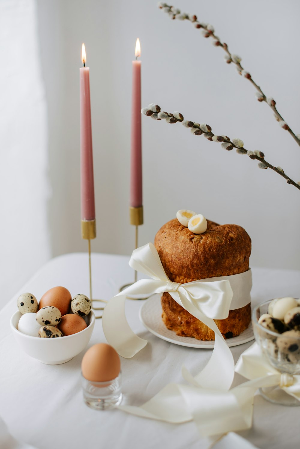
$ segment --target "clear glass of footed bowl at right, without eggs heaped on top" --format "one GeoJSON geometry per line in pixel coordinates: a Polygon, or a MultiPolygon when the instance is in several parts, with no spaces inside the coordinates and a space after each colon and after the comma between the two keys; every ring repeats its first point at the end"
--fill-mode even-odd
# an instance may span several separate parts
{"type": "MultiPolygon", "coordinates": [[[[256,343],[260,346],[269,364],[280,373],[300,374],[300,337],[282,336],[282,334],[266,329],[258,323],[260,316],[263,313],[268,313],[270,302],[271,300],[252,310],[252,325],[256,343]]],[[[263,387],[259,391],[261,396],[274,404],[300,406],[300,401],[279,386],[263,387]]]]}

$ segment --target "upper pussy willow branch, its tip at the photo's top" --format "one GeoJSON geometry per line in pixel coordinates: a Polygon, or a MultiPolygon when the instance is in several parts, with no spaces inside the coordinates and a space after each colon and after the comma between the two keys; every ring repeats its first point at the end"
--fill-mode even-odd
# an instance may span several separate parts
{"type": "Polygon", "coordinates": [[[244,78],[249,79],[251,84],[253,84],[253,86],[258,91],[256,93],[257,100],[260,102],[265,101],[265,103],[267,103],[270,106],[270,108],[274,112],[275,119],[279,122],[280,126],[283,129],[286,129],[291,134],[293,139],[297,142],[297,144],[300,145],[300,135],[299,134],[296,135],[291,130],[289,125],[286,123],[286,121],[283,119],[282,115],[279,114],[279,112],[275,106],[276,105],[275,100],[272,97],[266,97],[265,93],[261,90],[260,86],[258,84],[256,84],[256,82],[252,79],[250,73],[247,72],[246,70],[244,70],[243,66],[241,65],[242,58],[239,57],[238,55],[230,53],[230,51],[228,49],[228,45],[225,43],[222,43],[220,38],[215,35],[215,30],[212,25],[203,23],[203,22],[198,22],[197,16],[192,15],[192,14],[181,13],[181,11],[179,9],[174,8],[174,6],[169,6],[166,3],[160,2],[159,8],[163,9],[164,12],[168,13],[172,19],[189,20],[190,22],[192,22],[194,24],[195,28],[202,29],[204,37],[212,37],[214,39],[213,44],[216,47],[222,47],[223,50],[226,52],[226,55],[225,55],[226,62],[228,64],[230,64],[230,63],[235,64],[238,69],[239,74],[243,75],[244,78]]]}

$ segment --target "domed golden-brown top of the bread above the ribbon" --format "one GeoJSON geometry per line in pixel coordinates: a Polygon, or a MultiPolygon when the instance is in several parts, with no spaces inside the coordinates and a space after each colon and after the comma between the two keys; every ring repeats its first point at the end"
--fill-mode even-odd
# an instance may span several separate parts
{"type": "Polygon", "coordinates": [[[249,268],[251,238],[238,225],[207,220],[207,231],[197,235],[175,218],[159,229],[154,246],[167,276],[181,284],[249,268]]]}

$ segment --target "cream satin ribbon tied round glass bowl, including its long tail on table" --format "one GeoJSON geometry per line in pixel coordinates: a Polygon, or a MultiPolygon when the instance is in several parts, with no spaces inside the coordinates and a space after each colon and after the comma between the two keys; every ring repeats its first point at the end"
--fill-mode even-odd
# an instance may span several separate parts
{"type": "Polygon", "coordinates": [[[220,391],[217,385],[201,387],[183,367],[182,375],[189,385],[170,383],[141,407],[120,405],[119,409],[168,423],[194,420],[202,436],[212,437],[251,428],[253,397],[260,387],[281,385],[300,401],[300,375],[279,373],[269,365],[257,343],[243,352],[235,371],[250,380],[229,391],[220,391]]]}

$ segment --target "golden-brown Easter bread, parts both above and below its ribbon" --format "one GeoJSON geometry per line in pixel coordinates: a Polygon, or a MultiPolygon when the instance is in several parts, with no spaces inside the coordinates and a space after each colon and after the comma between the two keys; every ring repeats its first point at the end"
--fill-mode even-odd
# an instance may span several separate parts
{"type": "MultiPolygon", "coordinates": [[[[172,282],[186,283],[209,277],[230,276],[249,269],[251,238],[238,225],[218,225],[207,220],[207,231],[194,234],[177,219],[159,229],[154,245],[172,282]]],[[[167,292],[162,296],[163,321],[177,335],[213,340],[214,332],[176,303],[167,292]]],[[[225,338],[239,335],[251,321],[250,304],[215,320],[225,338]]]]}

